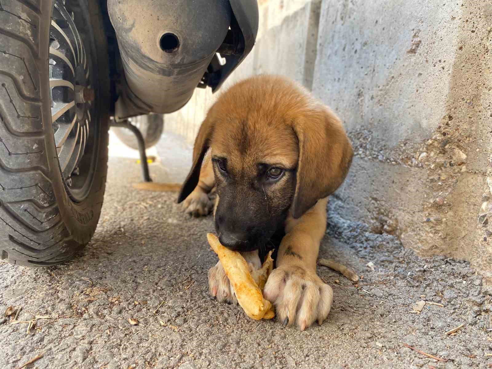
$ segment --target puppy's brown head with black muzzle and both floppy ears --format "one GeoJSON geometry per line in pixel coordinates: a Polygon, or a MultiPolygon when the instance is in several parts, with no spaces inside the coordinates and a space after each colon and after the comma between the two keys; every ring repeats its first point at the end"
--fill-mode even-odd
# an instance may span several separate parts
{"type": "Polygon", "coordinates": [[[337,116],[282,77],[258,76],[223,93],[202,123],[183,201],[211,149],[222,245],[257,249],[343,182],[352,147],[337,116]]]}

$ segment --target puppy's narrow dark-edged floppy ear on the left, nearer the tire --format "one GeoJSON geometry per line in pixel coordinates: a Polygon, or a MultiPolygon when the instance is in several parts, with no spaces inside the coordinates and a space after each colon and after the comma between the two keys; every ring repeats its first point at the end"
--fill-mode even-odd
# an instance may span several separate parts
{"type": "Polygon", "coordinates": [[[178,196],[178,204],[188,197],[188,195],[198,184],[202,161],[210,148],[210,139],[214,130],[214,124],[212,122],[213,119],[210,115],[208,115],[198,130],[198,134],[195,138],[195,144],[193,145],[193,163],[191,165],[190,172],[181,187],[181,191],[178,196]]]}

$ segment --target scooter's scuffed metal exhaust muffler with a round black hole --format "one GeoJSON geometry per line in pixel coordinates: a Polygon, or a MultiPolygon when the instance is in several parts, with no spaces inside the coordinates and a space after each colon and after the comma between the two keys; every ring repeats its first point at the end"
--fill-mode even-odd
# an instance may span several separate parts
{"type": "Polygon", "coordinates": [[[231,23],[229,0],[108,0],[124,81],[115,120],[182,108],[231,23]]]}

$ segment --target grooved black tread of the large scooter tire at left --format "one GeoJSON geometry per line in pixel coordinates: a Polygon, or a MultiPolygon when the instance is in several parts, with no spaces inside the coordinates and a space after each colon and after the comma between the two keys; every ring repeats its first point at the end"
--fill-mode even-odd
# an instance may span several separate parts
{"type": "Polygon", "coordinates": [[[80,248],[49,180],[39,91],[47,74],[38,54],[40,9],[40,1],[0,0],[0,255],[29,266],[58,264],[80,248]]]}

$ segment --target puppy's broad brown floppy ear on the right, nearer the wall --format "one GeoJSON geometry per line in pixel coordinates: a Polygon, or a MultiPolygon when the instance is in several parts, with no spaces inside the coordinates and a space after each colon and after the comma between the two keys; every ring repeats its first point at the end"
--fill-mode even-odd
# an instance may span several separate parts
{"type": "Polygon", "coordinates": [[[353,150],[338,117],[321,104],[310,114],[294,120],[293,129],[299,141],[292,204],[292,215],[297,219],[342,184],[353,150]]]}

